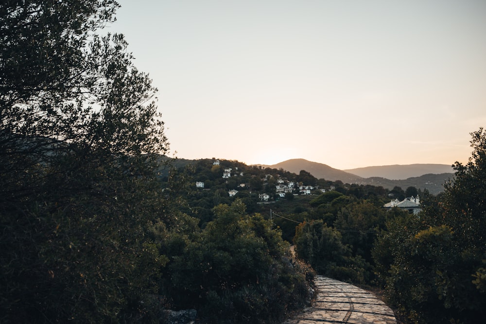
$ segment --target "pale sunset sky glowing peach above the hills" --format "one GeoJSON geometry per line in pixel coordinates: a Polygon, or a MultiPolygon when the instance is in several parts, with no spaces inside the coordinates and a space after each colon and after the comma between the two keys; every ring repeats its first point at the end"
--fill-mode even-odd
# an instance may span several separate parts
{"type": "Polygon", "coordinates": [[[465,163],[486,126],[484,0],[119,0],[171,156],[465,163]]]}

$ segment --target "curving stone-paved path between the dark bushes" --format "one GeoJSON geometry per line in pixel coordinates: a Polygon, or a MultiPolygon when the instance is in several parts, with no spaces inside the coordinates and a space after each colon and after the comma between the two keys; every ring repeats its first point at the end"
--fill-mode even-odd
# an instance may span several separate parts
{"type": "Polygon", "coordinates": [[[317,299],[304,313],[283,324],[396,324],[390,307],[356,286],[316,276],[317,299]]]}

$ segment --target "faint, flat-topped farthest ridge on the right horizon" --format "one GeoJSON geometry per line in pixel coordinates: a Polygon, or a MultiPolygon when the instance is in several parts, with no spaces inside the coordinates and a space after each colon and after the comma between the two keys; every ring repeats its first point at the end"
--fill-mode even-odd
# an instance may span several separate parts
{"type": "MultiPolygon", "coordinates": [[[[363,178],[381,177],[391,180],[403,180],[419,177],[424,174],[453,173],[451,165],[447,164],[408,164],[384,165],[357,169],[343,170],[363,178]]],[[[311,172],[312,173],[312,172],[311,172]]]]}

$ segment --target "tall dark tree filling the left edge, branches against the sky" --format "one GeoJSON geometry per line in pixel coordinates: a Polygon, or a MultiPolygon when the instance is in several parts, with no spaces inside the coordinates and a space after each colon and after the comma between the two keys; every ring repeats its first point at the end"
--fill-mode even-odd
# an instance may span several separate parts
{"type": "Polygon", "coordinates": [[[171,207],[153,167],[168,142],[123,36],[97,34],[117,7],[0,5],[1,322],[147,320],[160,305],[150,233],[171,207]]]}

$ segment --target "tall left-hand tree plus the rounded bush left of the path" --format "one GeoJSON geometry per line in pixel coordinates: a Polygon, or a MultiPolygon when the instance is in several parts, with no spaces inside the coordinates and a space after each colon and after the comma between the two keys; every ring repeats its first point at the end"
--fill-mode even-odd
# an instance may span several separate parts
{"type": "Polygon", "coordinates": [[[312,271],[242,203],[202,230],[185,173],[162,185],[156,89],[122,35],[97,34],[117,6],[0,5],[0,322],[163,323],[167,307],[279,322],[312,271]]]}

